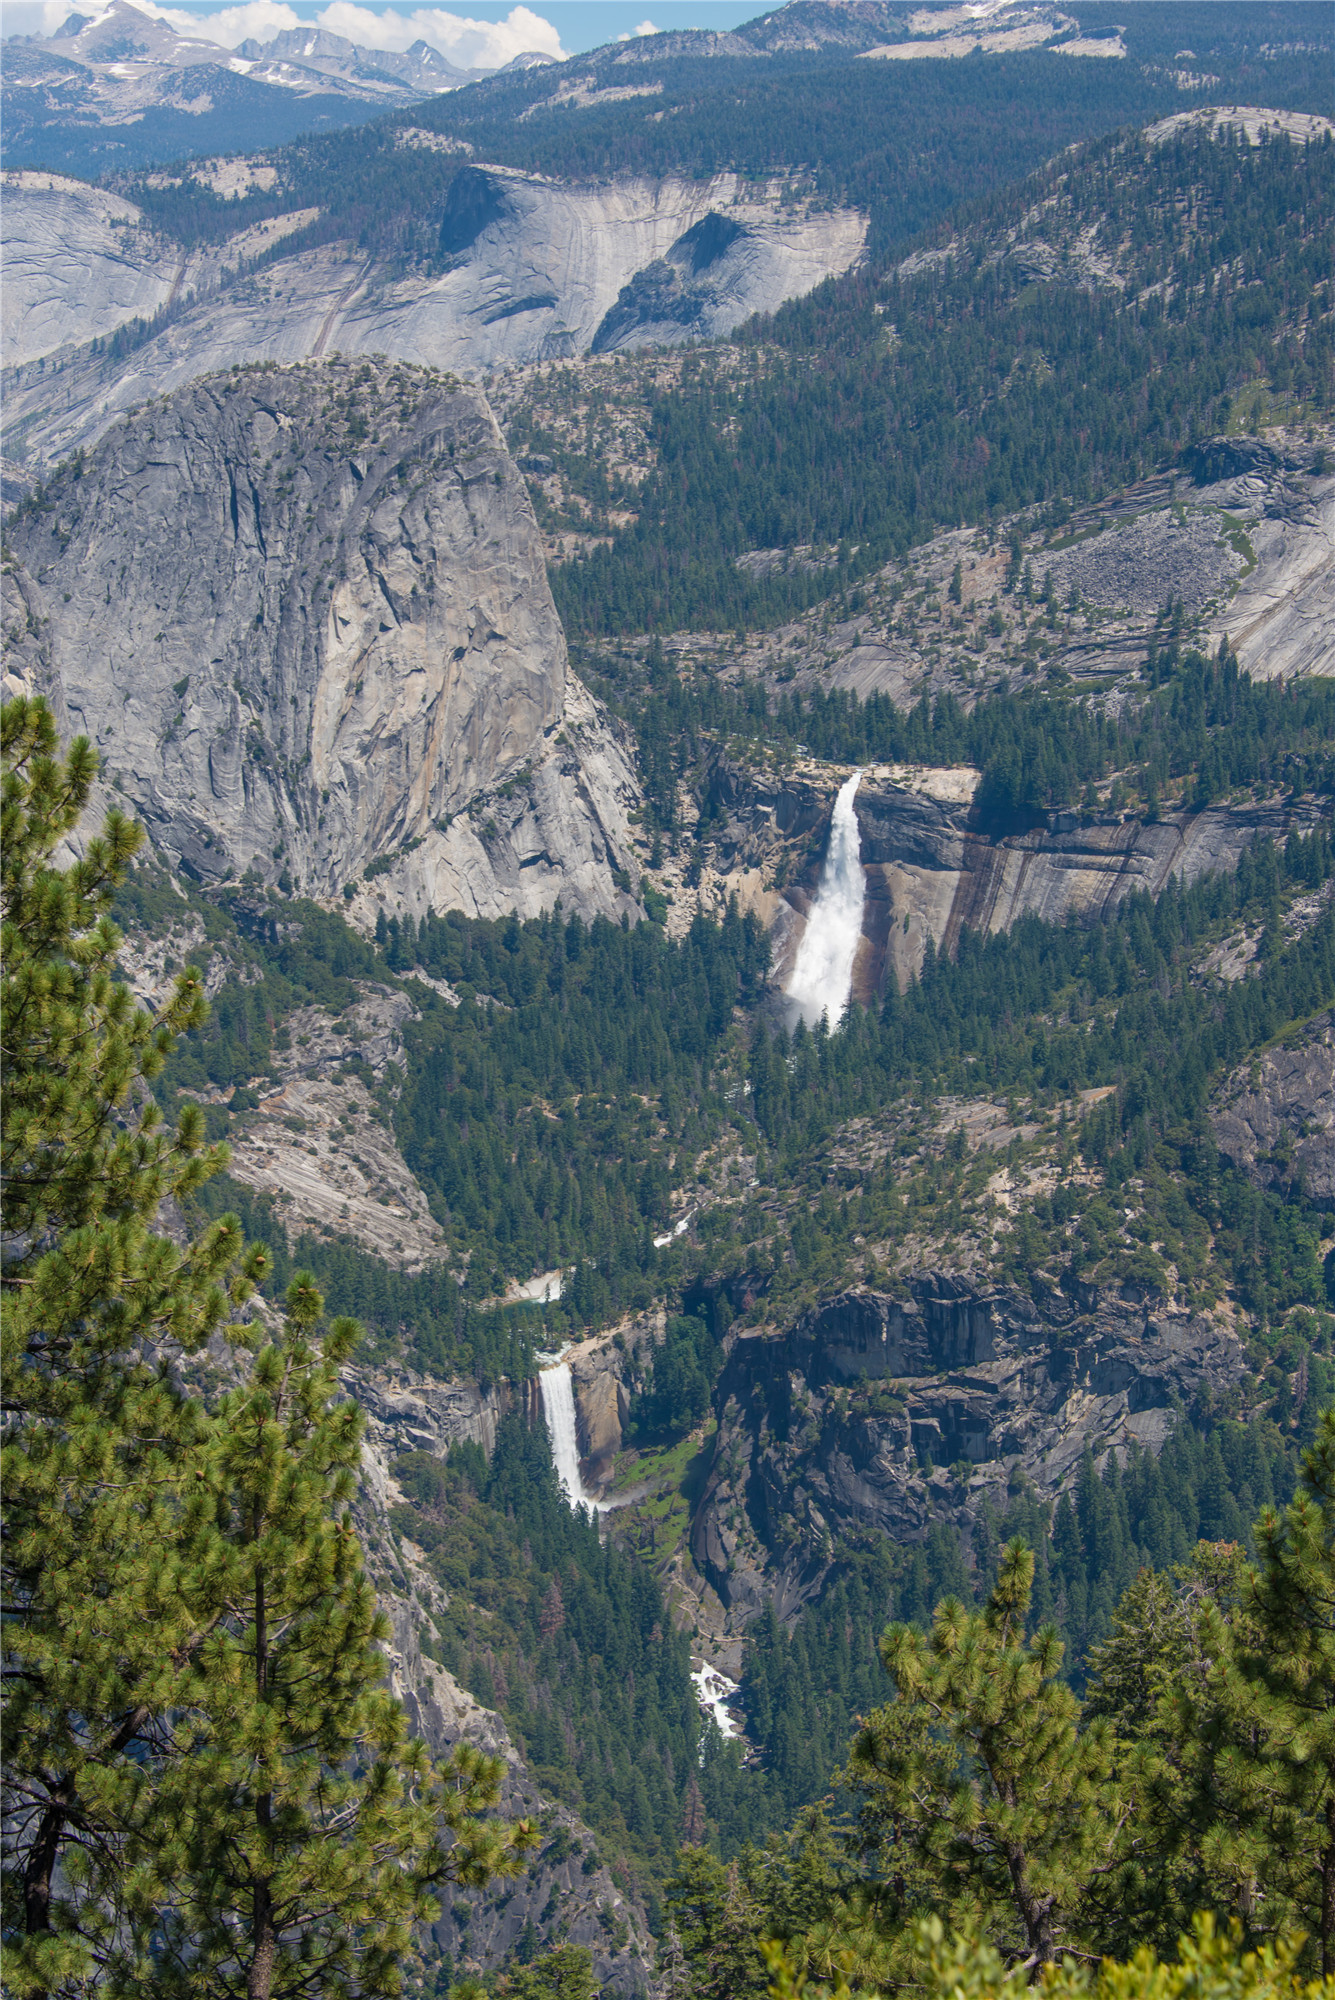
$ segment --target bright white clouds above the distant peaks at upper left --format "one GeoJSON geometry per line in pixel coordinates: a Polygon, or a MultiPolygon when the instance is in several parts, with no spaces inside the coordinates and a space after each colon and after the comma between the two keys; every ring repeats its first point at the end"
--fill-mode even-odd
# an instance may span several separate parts
{"type": "MultiPolygon", "coordinates": [[[[286,0],[240,0],[240,6],[216,10],[158,6],[156,0],[132,0],[142,14],[166,20],[178,34],[194,40],[220,42],[236,48],[238,42],[268,42],[284,28],[312,26],[312,16],[298,14],[286,0]]],[[[54,30],[78,8],[78,0],[40,0],[40,4],[6,6],[8,14],[24,14],[22,28],[6,20],[6,32],[54,34],[54,30]]],[[[84,12],[100,12],[84,6],[84,12]]],[[[430,42],[442,56],[460,70],[500,70],[512,56],[538,50],[544,56],[566,60],[560,30],[534,14],[528,6],[512,6],[504,20],[472,20],[468,14],[452,14],[444,6],[420,6],[400,14],[394,8],[358,6],[356,0],[330,0],[316,16],[314,24],[342,34],[364,48],[412,48],[414,42],[430,42]]],[[[646,24],[636,34],[654,34],[646,24]]]]}

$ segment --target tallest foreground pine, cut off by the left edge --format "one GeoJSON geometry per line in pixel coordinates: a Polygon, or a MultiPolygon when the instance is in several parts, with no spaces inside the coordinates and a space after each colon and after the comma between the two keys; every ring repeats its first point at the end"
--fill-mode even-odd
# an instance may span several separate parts
{"type": "Polygon", "coordinates": [[[202,1018],[198,974],[156,1018],[112,976],[108,906],[140,830],[112,812],[56,868],[96,758],[84,738],[62,758],[28,700],[4,708],[0,752],[6,1976],[56,1992],[114,1930],[116,1898],[82,1882],[94,1864],[116,1880],[202,1642],[174,1526],[202,1412],[162,1356],[198,1350],[264,1260],[240,1262],[234,1218],[184,1250],[152,1228],[226,1152],[196,1110],[166,1132],[146,1090],[202,1018]]]}

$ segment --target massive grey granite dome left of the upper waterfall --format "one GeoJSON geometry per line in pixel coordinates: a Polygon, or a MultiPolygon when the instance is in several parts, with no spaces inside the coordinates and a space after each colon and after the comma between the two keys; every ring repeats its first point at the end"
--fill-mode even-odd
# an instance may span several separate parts
{"type": "Polygon", "coordinates": [[[636,908],[628,748],[570,676],[478,390],[342,362],[200,382],[8,548],[6,688],[98,744],[168,862],[352,886],[364,920],[636,908]]]}

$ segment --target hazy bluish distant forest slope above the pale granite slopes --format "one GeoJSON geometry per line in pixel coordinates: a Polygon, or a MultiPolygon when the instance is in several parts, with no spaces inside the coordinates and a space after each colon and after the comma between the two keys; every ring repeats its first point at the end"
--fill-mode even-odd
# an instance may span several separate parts
{"type": "MultiPolygon", "coordinates": [[[[398,144],[404,126],[472,146],[478,160],[558,178],[739,172],[779,176],[817,200],[869,212],[875,252],[1017,180],[1065,146],[1145,124],[1191,102],[1323,110],[1329,24],[1305,4],[1141,8],[1129,24],[1107,6],[1067,8],[1089,32],[1121,26],[1127,62],[1053,62],[1045,50],[985,62],[861,62],[823,54],[681,54],[642,38],[574,58],[600,86],[632,80],[650,100],[548,106],[560,72],[498,76],[362,126],[284,146],[274,190],[222,200],[194,182],[124,176],[154,222],[184,244],[232,234],[282,208],[324,210],[310,240],[354,234],[380,254],[440,258],[442,212],[460,160],[398,144]],[[1199,82],[1179,48],[1193,48],[1199,82]],[[1205,82],[1209,78],[1209,84],[1205,82]],[[1023,104],[1023,116],[1015,106],[1023,104]]],[[[761,24],[757,24],[761,26],[761,24]]],[[[743,30],[745,34],[745,30],[743,30]]],[[[292,240],[290,240],[292,242],[292,240]]]]}

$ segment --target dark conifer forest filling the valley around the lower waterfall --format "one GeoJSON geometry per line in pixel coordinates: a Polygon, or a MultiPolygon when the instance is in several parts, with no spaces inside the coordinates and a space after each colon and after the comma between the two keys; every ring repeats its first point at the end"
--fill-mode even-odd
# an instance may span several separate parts
{"type": "MultiPolygon", "coordinates": [[[[1227,662],[1219,674],[1227,680],[1227,662]]],[[[1245,682],[1237,694],[1285,700],[1245,682]]],[[[939,726],[955,722],[945,716],[939,726]]],[[[1127,722],[1129,740],[1139,728],[1127,722]]],[[[1293,942],[1281,922],[1289,900],[1319,888],[1331,868],[1331,844],[1317,832],[1251,850],[1233,878],[1173,888],[1157,902],[1131,898],[1101,924],[1029,920],[1009,936],[965,934],[953,962],[929,960],[903,996],[891,992],[877,1010],[853,1014],[837,1036],[797,1028],[791,1038],[755,1014],[765,952],[739,918],[697,922],[669,944],[652,924],[450,916],[416,932],[386,924],[376,948],[318,912],[298,930],[290,918],[302,906],[288,904],[286,922],[272,928],[270,906],[254,894],[220,898],[216,928],[224,934],[240,912],[266,968],[264,978],[238,982],[254,1004],[256,1040],[244,1038],[224,988],[212,1022],[172,1058],[174,1088],[200,1074],[254,1084],[254,1050],[272,1048],[298,998],[324,994],[338,1004],[340,978],[396,980],[430,968],[460,992],[460,1006],[410,986],[422,1008],[414,1062],[398,1102],[386,1100],[408,1158],[442,1198],[456,1240],[476,1246],[476,1270],[488,1258],[498,1276],[508,1264],[526,1272],[578,1258],[578,1284],[562,1308],[548,1308],[544,1334],[534,1308],[488,1308],[484,1284],[484,1298],[470,1298],[472,1284],[462,1292],[448,1272],[400,1276],[350,1242],[294,1246],[336,1306],[358,1310],[376,1344],[400,1336],[418,1364],[466,1368],[484,1382],[518,1378],[532,1372],[536,1340],[675,1288],[699,1300],[699,1316],[671,1322],[642,1384],[636,1430],[646,1446],[683,1436],[707,1414],[729,1280],[759,1280],[765,1314],[791,1314],[843,1282],[855,1236],[893,1240],[917,1218],[941,1230],[953,1210],[967,1214],[973,1168],[963,1152],[925,1150],[855,1182],[827,1180],[821,1164],[829,1134],[849,1116],[951,1088],[1069,1102],[1085,1082],[1115,1084],[1115,1096],[1065,1138],[1071,1152],[1079,1146],[1099,1162],[1103,1188],[1081,1202],[1057,1192],[1033,1204],[999,1276],[1025,1284],[1031,1268],[1069,1264],[1101,1280],[1165,1284],[1171,1260],[1183,1296],[1207,1304],[1227,1282],[1255,1314],[1253,1360],[1273,1376],[1267,1420],[1241,1424],[1205,1406],[1183,1412],[1159,1460],[1133,1456],[1101,1478],[1087,1464],[1055,1514],[1021,1494],[1003,1518],[979,1522],[969,1550],[943,1524],[917,1550],[843,1548],[833,1588],[791,1632],[761,1618],[743,1668],[761,1764],[743,1764],[739,1748],[715,1736],[693,1764],[685,1640],[669,1638],[648,1570],[600,1548],[594,1528],[572,1516],[542,1428],[508,1420],[490,1468],[472,1450],[446,1468],[404,1460],[396,1522],[430,1552],[458,1602],[432,1644],[480,1700],[502,1708],[544,1784],[582,1812],[608,1856],[662,1888],[681,1828],[705,1830],[723,1856],[777,1834],[823,1796],[853,1720],[881,1698],[885,1620],[923,1624],[945,1594],[981,1600],[1009,1536],[1035,1550],[1033,1620],[1055,1620],[1079,1682],[1139,1566],[1185,1562],[1197,1538],[1243,1542],[1259,1508],[1287,1500],[1295,1452],[1335,1390],[1325,1316],[1335,1300],[1321,1242],[1329,1224],[1307,1210],[1299,1188],[1265,1194],[1223,1170],[1203,1110],[1221,1068],[1335,998],[1329,912],[1293,942]],[[1241,920],[1269,926],[1261,972],[1211,992],[1195,972],[1201,950],[1241,920]],[[753,1026],[743,1032],[747,1014],[753,1026]],[[741,1074],[745,1098],[735,1090],[741,1074]],[[460,1116],[444,1120],[442,1104],[460,1116]],[[532,1120],[530,1146],[534,1104],[560,1116],[532,1120]],[[664,1150],[701,1146],[719,1128],[755,1146],[763,1202],[705,1218],[693,1248],[656,1250],[652,1234],[669,1218],[664,1150]],[[1301,1358],[1309,1386],[1295,1430],[1285,1396],[1301,1358]],[[630,1762],[628,1740],[644,1748],[630,1762]]],[[[122,894],[126,916],[142,916],[154,894],[148,878],[132,884],[122,894]]],[[[222,1184],[210,1204],[238,1206],[238,1198],[248,1230],[268,1234],[272,1208],[244,1190],[222,1184]]],[[[278,1238],[282,1246],[282,1230],[278,1238]]],[[[276,1282],[290,1268],[282,1246],[276,1282]]]]}

